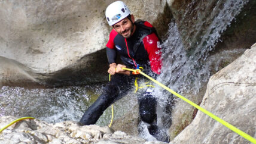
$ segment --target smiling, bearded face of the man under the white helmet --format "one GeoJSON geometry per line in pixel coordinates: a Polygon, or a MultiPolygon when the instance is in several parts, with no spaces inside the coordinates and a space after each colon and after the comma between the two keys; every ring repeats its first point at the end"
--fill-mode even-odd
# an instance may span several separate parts
{"type": "Polygon", "coordinates": [[[132,21],[127,17],[112,26],[115,32],[119,33],[124,38],[129,38],[134,32],[134,26],[132,21]]]}

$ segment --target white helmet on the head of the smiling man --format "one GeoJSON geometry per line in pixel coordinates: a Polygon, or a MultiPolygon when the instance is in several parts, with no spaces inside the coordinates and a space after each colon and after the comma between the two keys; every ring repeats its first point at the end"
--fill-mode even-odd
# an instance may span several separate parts
{"type": "Polygon", "coordinates": [[[108,5],[106,8],[106,20],[109,26],[118,23],[130,14],[129,8],[124,4],[124,2],[116,1],[108,5]]]}

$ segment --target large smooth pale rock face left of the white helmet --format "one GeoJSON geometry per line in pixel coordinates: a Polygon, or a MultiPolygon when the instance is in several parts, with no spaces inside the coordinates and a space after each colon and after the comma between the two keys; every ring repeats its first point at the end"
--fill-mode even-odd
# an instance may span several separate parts
{"type": "Polygon", "coordinates": [[[45,73],[102,49],[108,29],[101,3],[2,1],[1,55],[45,73]]]}

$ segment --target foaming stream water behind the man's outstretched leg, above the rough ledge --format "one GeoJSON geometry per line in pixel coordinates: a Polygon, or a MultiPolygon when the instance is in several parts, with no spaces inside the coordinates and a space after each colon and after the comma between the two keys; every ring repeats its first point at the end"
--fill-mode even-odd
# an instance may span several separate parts
{"type": "MultiPolygon", "coordinates": [[[[66,120],[79,121],[83,112],[102,93],[103,84],[91,86],[68,86],[53,89],[25,89],[23,87],[4,86],[0,89],[0,117],[35,117],[48,123],[66,120]]],[[[135,96],[123,98],[114,104],[115,118],[124,115],[127,108],[136,105],[135,96]]],[[[108,126],[111,121],[109,107],[96,124],[108,126]]]]}

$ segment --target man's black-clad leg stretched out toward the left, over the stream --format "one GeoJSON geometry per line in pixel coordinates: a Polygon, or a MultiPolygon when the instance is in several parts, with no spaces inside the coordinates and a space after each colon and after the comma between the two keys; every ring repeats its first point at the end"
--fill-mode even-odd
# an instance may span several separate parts
{"type": "Polygon", "coordinates": [[[95,124],[105,109],[126,92],[128,86],[129,77],[121,74],[112,76],[111,82],[106,84],[99,98],[84,112],[80,123],[82,125],[95,124]]]}

